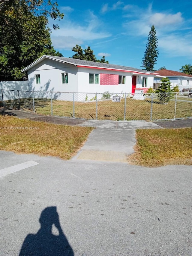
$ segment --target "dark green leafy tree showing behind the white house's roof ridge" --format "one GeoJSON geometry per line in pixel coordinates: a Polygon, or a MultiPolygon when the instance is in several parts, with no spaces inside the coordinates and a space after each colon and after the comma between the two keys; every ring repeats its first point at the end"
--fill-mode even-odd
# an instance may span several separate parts
{"type": "Polygon", "coordinates": [[[109,63],[109,61],[105,60],[105,56],[101,58],[101,60],[98,60],[93,50],[91,50],[90,46],[88,46],[86,49],[82,49],[81,46],[76,45],[71,49],[73,52],[76,52],[71,58],[73,59],[79,59],[79,60],[85,60],[85,61],[96,61],[96,62],[102,62],[102,63],[109,63]]]}

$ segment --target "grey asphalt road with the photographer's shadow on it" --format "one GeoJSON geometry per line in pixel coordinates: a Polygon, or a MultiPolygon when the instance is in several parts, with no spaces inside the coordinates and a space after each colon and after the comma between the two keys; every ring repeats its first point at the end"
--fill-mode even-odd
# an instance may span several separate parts
{"type": "Polygon", "coordinates": [[[0,154],[2,256],[192,255],[191,166],[0,154]]]}

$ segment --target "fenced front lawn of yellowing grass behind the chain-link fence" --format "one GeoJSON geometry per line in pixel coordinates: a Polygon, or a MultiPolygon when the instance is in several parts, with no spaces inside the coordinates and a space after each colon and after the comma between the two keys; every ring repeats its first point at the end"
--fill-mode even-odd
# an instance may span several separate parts
{"type": "MultiPolygon", "coordinates": [[[[18,102],[7,101],[7,106],[18,107],[18,102]],[[12,105],[11,105],[12,104],[12,105]]],[[[33,99],[20,99],[21,110],[33,112],[33,99]]],[[[121,102],[112,100],[98,101],[98,120],[124,120],[125,98],[121,102]]],[[[35,98],[36,114],[51,115],[51,101],[45,98],[35,98]]],[[[52,112],[54,116],[73,117],[73,101],[52,101],[52,112]]],[[[74,114],[76,118],[96,119],[96,101],[78,102],[75,101],[74,114]]],[[[159,104],[157,98],[153,99],[152,120],[173,119],[175,114],[175,100],[171,100],[167,105],[159,104]]],[[[192,98],[182,97],[177,100],[176,118],[192,116],[192,98]],[[185,99],[186,101],[181,101],[185,99]]],[[[146,100],[135,100],[126,98],[126,120],[147,120],[151,117],[151,98],[146,100]]]]}

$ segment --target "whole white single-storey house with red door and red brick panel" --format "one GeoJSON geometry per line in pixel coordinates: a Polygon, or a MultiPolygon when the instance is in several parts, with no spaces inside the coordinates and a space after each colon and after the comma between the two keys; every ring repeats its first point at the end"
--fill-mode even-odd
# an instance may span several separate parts
{"type": "Polygon", "coordinates": [[[154,78],[162,77],[133,67],[49,55],[43,55],[24,71],[31,91],[53,92],[145,93],[153,87],[154,78]]]}

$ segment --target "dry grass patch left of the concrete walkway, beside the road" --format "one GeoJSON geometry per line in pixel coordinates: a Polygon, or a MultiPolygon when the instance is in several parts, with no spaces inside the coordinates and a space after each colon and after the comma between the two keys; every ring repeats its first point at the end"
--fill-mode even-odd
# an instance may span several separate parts
{"type": "Polygon", "coordinates": [[[0,126],[1,150],[57,156],[65,160],[70,159],[78,151],[94,129],[55,125],[10,116],[0,116],[0,126]]]}

